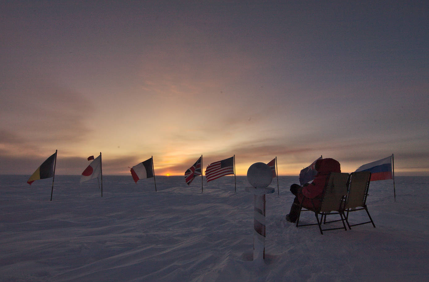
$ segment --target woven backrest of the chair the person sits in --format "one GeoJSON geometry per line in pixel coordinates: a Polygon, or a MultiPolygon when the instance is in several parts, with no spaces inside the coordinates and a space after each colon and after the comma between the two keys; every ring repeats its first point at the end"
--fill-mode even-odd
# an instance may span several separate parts
{"type": "Polygon", "coordinates": [[[342,199],[347,195],[348,179],[348,173],[330,173],[320,212],[338,211],[342,208],[342,199]]]}

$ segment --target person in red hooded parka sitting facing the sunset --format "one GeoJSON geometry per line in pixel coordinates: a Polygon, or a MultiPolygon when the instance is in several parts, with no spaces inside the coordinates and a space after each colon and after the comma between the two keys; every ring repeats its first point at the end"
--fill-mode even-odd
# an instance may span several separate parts
{"type": "Polygon", "coordinates": [[[296,222],[301,203],[302,207],[306,209],[320,209],[323,188],[326,185],[329,173],[341,172],[340,163],[331,158],[317,160],[314,168],[317,174],[314,176],[313,182],[305,184],[303,187],[298,184],[290,185],[290,191],[295,195],[295,199],[290,207],[289,214],[286,215],[287,221],[296,222]]]}

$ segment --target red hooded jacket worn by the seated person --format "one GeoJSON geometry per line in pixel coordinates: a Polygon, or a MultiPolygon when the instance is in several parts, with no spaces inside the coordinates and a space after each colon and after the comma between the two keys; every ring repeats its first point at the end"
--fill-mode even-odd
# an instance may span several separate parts
{"type": "Polygon", "coordinates": [[[317,174],[314,176],[313,182],[299,189],[296,195],[299,203],[302,203],[302,206],[306,209],[320,209],[323,188],[326,185],[329,173],[341,172],[340,163],[331,158],[317,160],[315,169],[317,174]]]}

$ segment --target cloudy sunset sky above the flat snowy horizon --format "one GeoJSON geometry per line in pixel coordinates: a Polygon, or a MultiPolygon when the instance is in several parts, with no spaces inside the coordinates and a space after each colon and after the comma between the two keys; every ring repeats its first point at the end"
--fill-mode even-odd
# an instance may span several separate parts
{"type": "MultiPolygon", "coordinates": [[[[429,175],[426,1],[3,1],[0,174],[235,155],[429,175]]],[[[204,169],[203,169],[204,171],[204,169]]]]}

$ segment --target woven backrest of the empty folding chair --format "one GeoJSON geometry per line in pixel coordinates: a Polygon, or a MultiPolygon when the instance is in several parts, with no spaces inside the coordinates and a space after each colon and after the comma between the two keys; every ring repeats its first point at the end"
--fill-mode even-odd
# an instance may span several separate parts
{"type": "Polygon", "coordinates": [[[365,206],[370,179],[371,173],[369,171],[359,171],[350,174],[350,184],[345,204],[346,209],[365,206]]]}

